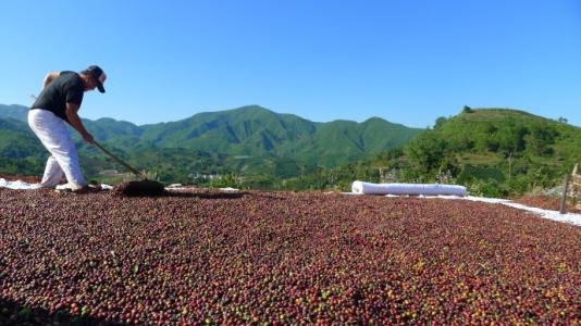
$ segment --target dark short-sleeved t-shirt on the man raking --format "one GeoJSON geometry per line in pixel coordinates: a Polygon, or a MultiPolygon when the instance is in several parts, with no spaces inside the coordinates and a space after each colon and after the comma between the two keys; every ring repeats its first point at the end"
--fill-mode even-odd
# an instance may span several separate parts
{"type": "Polygon", "coordinates": [[[45,109],[51,111],[60,118],[66,120],[66,103],[81,105],[85,86],[83,79],[75,72],[61,72],[59,77],[52,79],[40,92],[30,109],[45,109]]]}

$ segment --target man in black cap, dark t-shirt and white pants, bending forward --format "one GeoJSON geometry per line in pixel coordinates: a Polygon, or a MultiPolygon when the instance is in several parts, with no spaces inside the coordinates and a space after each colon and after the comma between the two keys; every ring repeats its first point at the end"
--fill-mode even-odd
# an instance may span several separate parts
{"type": "Polygon", "coordinates": [[[42,83],[42,91],[28,111],[28,125],[51,153],[47,161],[41,187],[54,188],[66,177],[73,191],[87,192],[91,188],[85,181],[78,164],[78,153],[64,122],[91,143],[90,135],[78,117],[78,109],[85,91],[98,88],[104,92],[104,72],[97,65],[77,74],[75,72],[49,73],[42,83]]]}

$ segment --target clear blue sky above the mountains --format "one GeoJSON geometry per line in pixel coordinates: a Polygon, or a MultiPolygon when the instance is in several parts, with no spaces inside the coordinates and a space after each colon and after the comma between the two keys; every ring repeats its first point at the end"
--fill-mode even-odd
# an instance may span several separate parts
{"type": "Polygon", "coordinates": [[[581,1],[0,3],[0,103],[99,64],[81,116],[136,124],[260,104],[317,122],[433,126],[514,108],[581,126],[581,1]]]}

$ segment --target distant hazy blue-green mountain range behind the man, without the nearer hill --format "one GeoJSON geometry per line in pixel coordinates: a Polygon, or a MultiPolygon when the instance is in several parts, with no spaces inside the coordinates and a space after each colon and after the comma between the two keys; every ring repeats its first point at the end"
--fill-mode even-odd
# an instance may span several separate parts
{"type": "MultiPolygon", "coordinates": [[[[26,124],[27,110],[22,105],[0,104],[0,156],[4,161],[41,161],[47,155],[26,124]]],[[[380,117],[362,123],[317,123],[258,105],[141,126],[109,117],[83,120],[83,123],[97,141],[140,167],[156,163],[172,168],[193,168],[193,173],[234,170],[237,173],[268,172],[273,176],[293,176],[316,167],[367,159],[408,142],[421,131],[380,117]],[[148,162],[144,162],[144,158],[148,162]]],[[[88,162],[84,166],[91,170],[90,173],[111,165],[104,163],[107,161],[95,148],[83,142],[77,133],[72,131],[72,135],[79,154],[88,162]]],[[[12,167],[4,166],[4,170],[18,172],[22,168],[16,163],[10,162],[12,167]]],[[[42,162],[37,165],[41,166],[42,162]]]]}

